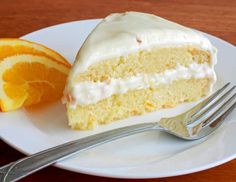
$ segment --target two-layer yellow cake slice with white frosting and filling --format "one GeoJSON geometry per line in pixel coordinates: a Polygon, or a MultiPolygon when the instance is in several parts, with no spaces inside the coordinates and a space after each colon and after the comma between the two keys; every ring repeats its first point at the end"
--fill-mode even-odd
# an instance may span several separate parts
{"type": "Polygon", "coordinates": [[[215,48],[193,29],[151,14],[111,14],[88,36],[69,74],[69,125],[91,129],[196,101],[211,91],[215,63],[215,48]]]}

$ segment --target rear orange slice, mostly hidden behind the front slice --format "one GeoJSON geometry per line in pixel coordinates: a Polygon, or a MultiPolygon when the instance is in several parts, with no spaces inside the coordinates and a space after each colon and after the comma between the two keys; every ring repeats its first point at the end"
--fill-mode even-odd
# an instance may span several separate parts
{"type": "Polygon", "coordinates": [[[68,66],[70,65],[63,56],[44,45],[17,38],[0,38],[0,60],[18,54],[44,56],[68,66]]]}

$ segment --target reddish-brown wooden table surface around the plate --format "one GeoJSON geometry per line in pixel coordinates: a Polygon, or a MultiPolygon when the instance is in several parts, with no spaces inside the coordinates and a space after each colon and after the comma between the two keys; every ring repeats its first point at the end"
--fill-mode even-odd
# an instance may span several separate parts
{"type": "MultiPolygon", "coordinates": [[[[0,37],[20,37],[47,26],[124,11],[153,13],[236,45],[236,0],[0,0],[0,37]]],[[[23,156],[0,141],[0,165],[23,156]]],[[[43,169],[22,181],[49,180],[119,181],[55,167],[43,169]]],[[[194,174],[145,181],[236,181],[236,159],[194,174]]]]}

